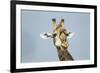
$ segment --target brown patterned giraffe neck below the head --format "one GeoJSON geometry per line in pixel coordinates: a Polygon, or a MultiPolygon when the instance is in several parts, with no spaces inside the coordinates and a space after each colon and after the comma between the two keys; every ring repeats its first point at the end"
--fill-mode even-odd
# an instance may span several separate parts
{"type": "Polygon", "coordinates": [[[73,60],[73,57],[68,52],[68,50],[61,48],[61,47],[57,47],[57,50],[58,50],[58,57],[60,61],[73,60]]]}

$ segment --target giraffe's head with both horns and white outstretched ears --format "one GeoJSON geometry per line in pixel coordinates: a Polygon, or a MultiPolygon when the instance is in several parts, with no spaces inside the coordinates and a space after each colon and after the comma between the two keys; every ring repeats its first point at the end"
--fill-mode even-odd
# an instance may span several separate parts
{"type": "Polygon", "coordinates": [[[68,32],[67,29],[65,29],[64,19],[61,19],[60,23],[57,25],[56,19],[53,18],[52,29],[53,29],[52,33],[44,32],[40,34],[40,37],[43,39],[53,38],[55,46],[68,48],[67,39],[70,39],[74,34],[73,32],[68,32]]]}

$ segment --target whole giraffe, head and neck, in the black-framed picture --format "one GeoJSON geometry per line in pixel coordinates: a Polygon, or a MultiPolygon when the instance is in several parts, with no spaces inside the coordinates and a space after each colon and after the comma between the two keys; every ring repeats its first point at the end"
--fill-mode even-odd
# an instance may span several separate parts
{"type": "MultiPolygon", "coordinates": [[[[57,25],[56,19],[52,19],[52,34],[44,33],[43,36],[53,38],[54,46],[57,48],[57,53],[60,61],[69,61],[74,60],[71,54],[68,51],[68,39],[67,37],[71,34],[65,29],[64,19],[61,19],[61,22],[57,25]]],[[[42,37],[43,37],[42,36],[42,37]]]]}

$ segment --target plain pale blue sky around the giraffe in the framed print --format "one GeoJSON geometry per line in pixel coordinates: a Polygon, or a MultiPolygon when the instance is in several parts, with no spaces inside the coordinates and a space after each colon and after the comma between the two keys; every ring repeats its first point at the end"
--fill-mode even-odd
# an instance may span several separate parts
{"type": "Polygon", "coordinates": [[[75,32],[68,50],[75,60],[90,59],[90,14],[75,12],[21,11],[22,62],[59,61],[52,40],[44,40],[40,33],[52,32],[52,18],[63,18],[65,26],[75,32]]]}

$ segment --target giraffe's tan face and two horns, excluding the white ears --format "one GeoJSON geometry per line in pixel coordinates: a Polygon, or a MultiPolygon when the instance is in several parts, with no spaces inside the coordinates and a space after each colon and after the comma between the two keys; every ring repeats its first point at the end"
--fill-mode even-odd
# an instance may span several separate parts
{"type": "Polygon", "coordinates": [[[58,25],[56,24],[56,19],[52,19],[52,28],[55,46],[67,48],[67,30],[64,27],[64,19],[61,19],[61,22],[58,25]]]}

